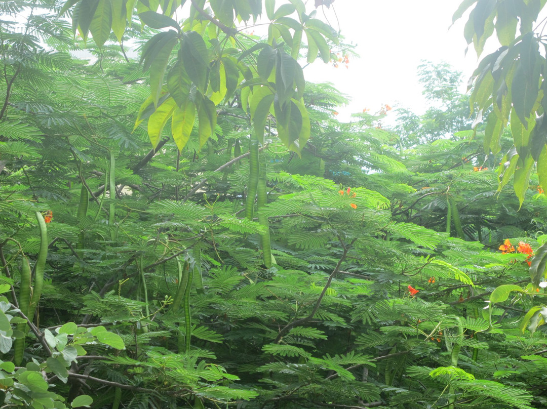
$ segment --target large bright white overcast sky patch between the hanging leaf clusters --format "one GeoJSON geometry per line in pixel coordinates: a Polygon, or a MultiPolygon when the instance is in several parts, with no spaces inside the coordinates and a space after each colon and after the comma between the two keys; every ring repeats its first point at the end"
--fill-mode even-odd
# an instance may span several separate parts
{"type": "MultiPolygon", "coordinates": [[[[450,63],[464,73],[465,82],[478,63],[473,46],[467,56],[464,54],[467,43],[463,25],[467,16],[449,30],[452,14],[461,2],[335,0],[333,7],[341,33],[348,42],[357,44],[360,58],[351,59],[347,69],[344,65],[335,69],[317,60],[305,68],[305,77],[310,81],[330,81],[351,97],[350,105],[339,110],[342,120],[364,108],[375,112],[386,103],[423,113],[426,106],[416,69],[422,60],[450,63]]],[[[333,11],[324,10],[331,25],[337,28],[333,11]]],[[[322,14],[319,8],[317,17],[323,19],[322,14]]],[[[485,55],[499,46],[493,37],[485,55]]]]}

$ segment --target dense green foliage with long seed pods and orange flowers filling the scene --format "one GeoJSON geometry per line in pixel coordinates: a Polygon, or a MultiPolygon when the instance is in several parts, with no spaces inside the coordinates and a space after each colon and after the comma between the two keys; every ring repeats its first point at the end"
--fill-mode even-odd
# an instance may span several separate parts
{"type": "Polygon", "coordinates": [[[305,83],[339,45],[299,0],[65,2],[92,62],[54,3],[0,32],[4,406],[547,404],[545,196],[497,191],[495,132],[421,144],[463,123],[449,68],[401,145],[305,83]]]}

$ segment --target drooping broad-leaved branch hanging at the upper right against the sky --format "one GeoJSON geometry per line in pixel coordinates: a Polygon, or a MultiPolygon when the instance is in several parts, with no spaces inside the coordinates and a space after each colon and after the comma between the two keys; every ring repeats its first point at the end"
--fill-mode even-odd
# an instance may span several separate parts
{"type": "Polygon", "coordinates": [[[473,73],[469,81],[474,86],[470,107],[472,110],[477,107],[479,119],[487,115],[487,154],[490,151],[494,155],[499,153],[499,139],[509,124],[514,147],[503,156],[498,173],[502,176],[501,182],[514,174],[514,190],[522,204],[536,162],[539,184],[542,189],[547,184],[547,125],[543,125],[547,106],[544,96],[546,63],[540,53],[544,21],[534,27],[545,2],[465,1],[454,14],[453,20],[461,18],[465,10],[473,5],[465,24],[467,43],[473,43],[480,56],[486,40],[495,30],[501,48],[484,57],[473,73]],[[490,113],[487,112],[489,109],[492,109],[490,113]]]}

